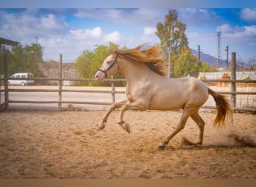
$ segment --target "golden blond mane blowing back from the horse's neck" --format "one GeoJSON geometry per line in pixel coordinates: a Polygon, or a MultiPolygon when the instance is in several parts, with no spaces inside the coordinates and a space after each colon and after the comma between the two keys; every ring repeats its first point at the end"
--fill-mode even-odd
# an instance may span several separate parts
{"type": "Polygon", "coordinates": [[[119,55],[120,58],[130,58],[133,61],[145,63],[147,67],[161,76],[167,75],[165,54],[158,45],[147,48],[147,43],[144,43],[134,49],[118,49],[113,53],[119,55]]]}

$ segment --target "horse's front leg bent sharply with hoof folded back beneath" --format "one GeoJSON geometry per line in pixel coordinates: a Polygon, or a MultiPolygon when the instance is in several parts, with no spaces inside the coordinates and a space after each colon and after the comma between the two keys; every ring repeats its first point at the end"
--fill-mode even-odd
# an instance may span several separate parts
{"type": "Polygon", "coordinates": [[[123,105],[121,107],[121,112],[119,114],[119,120],[118,120],[118,124],[124,129],[126,130],[128,133],[130,133],[130,127],[129,127],[129,123],[126,123],[123,120],[124,117],[124,111],[127,110],[147,110],[147,105],[142,104],[141,102],[132,102],[126,105],[123,105]]]}

